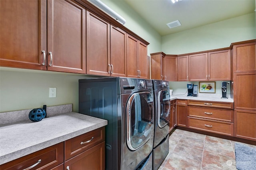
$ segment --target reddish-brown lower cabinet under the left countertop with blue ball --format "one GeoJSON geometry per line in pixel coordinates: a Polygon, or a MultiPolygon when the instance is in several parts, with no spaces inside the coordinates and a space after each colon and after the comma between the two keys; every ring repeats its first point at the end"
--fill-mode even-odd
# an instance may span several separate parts
{"type": "Polygon", "coordinates": [[[29,167],[33,170],[104,170],[105,127],[0,165],[1,170],[29,167]]]}

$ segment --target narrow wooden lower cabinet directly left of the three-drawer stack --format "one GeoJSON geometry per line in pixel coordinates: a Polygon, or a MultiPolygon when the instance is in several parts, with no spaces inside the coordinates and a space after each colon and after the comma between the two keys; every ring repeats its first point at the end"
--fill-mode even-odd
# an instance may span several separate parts
{"type": "Polygon", "coordinates": [[[187,100],[177,100],[177,126],[187,127],[187,100]]]}

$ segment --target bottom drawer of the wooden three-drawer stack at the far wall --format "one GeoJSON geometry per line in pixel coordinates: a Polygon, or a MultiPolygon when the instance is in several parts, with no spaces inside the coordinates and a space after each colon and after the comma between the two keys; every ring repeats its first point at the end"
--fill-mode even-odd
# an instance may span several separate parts
{"type": "Polygon", "coordinates": [[[188,117],[188,127],[222,135],[234,136],[234,124],[228,122],[188,117]]]}

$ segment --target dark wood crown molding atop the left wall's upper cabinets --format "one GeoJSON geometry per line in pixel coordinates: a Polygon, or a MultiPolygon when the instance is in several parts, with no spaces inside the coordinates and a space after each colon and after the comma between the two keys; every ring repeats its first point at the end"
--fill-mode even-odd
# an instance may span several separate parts
{"type": "Polygon", "coordinates": [[[142,37],[140,37],[136,33],[132,32],[130,29],[126,28],[124,25],[122,25],[121,23],[116,21],[114,18],[112,18],[111,16],[109,16],[104,11],[100,10],[99,8],[97,8],[96,6],[94,6],[93,4],[88,2],[87,0],[73,0],[73,1],[76,1],[79,4],[81,4],[82,6],[84,6],[86,8],[86,10],[88,9],[88,10],[93,11],[98,16],[100,16],[100,17],[104,18],[105,20],[109,21],[112,25],[115,25],[115,26],[119,27],[120,29],[126,31],[126,33],[132,35],[133,37],[140,40],[144,44],[149,45],[149,43],[146,40],[142,39],[142,37]]]}

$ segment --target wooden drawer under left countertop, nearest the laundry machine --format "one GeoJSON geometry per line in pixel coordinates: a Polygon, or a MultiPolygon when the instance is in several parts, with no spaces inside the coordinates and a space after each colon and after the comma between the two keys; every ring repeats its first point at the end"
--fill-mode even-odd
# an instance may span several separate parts
{"type": "Polygon", "coordinates": [[[105,127],[65,141],[65,160],[105,141],[105,127]]]}

